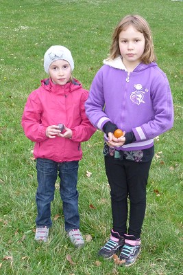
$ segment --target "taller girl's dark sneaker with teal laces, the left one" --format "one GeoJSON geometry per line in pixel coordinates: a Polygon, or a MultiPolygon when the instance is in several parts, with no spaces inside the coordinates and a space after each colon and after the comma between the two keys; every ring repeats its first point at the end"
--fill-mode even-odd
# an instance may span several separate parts
{"type": "Polygon", "coordinates": [[[117,254],[125,243],[125,238],[120,236],[118,232],[111,230],[110,239],[108,242],[99,250],[99,256],[103,259],[111,259],[114,254],[117,254]]]}

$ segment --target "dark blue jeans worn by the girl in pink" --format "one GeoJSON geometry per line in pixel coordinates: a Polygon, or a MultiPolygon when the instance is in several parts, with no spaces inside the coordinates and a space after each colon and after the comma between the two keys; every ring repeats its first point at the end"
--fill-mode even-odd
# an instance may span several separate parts
{"type": "Polygon", "coordinates": [[[77,172],[79,162],[53,162],[51,159],[36,159],[38,189],[36,203],[38,215],[36,226],[50,228],[51,201],[54,199],[56,179],[60,177],[60,197],[63,204],[65,230],[80,228],[78,212],[77,172]]]}

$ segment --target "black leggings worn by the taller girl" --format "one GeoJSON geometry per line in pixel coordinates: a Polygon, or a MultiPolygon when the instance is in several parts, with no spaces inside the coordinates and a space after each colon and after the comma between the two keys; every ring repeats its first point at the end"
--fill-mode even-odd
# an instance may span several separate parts
{"type": "Polygon", "coordinates": [[[121,235],[134,235],[138,239],[145,217],[146,186],[151,161],[140,163],[105,157],[105,166],[111,189],[113,230],[121,235]],[[128,230],[127,198],[130,199],[128,230]]]}

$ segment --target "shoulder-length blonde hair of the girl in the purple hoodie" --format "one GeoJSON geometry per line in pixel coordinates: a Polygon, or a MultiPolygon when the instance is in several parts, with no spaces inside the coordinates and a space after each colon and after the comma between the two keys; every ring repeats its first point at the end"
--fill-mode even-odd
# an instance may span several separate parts
{"type": "Polygon", "coordinates": [[[132,25],[138,32],[141,32],[145,37],[145,50],[141,56],[141,62],[149,64],[156,61],[151,29],[149,28],[147,21],[138,14],[127,15],[119,21],[112,34],[112,45],[110,46],[110,55],[108,59],[114,59],[120,55],[119,34],[121,31],[126,30],[130,25],[132,25]]]}

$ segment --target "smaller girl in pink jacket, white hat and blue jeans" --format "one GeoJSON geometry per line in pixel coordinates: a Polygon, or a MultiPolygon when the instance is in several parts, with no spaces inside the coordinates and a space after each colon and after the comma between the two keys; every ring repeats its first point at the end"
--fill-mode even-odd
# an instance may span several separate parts
{"type": "Polygon", "coordinates": [[[76,248],[84,245],[78,213],[77,171],[82,159],[81,142],[89,140],[95,127],[86,117],[84,103],[88,91],[73,78],[71,52],[54,45],[44,56],[49,78],[29,95],[23,111],[25,135],[35,142],[34,157],[38,189],[36,241],[45,241],[51,228],[51,201],[56,179],[60,177],[65,230],[76,248]]]}

